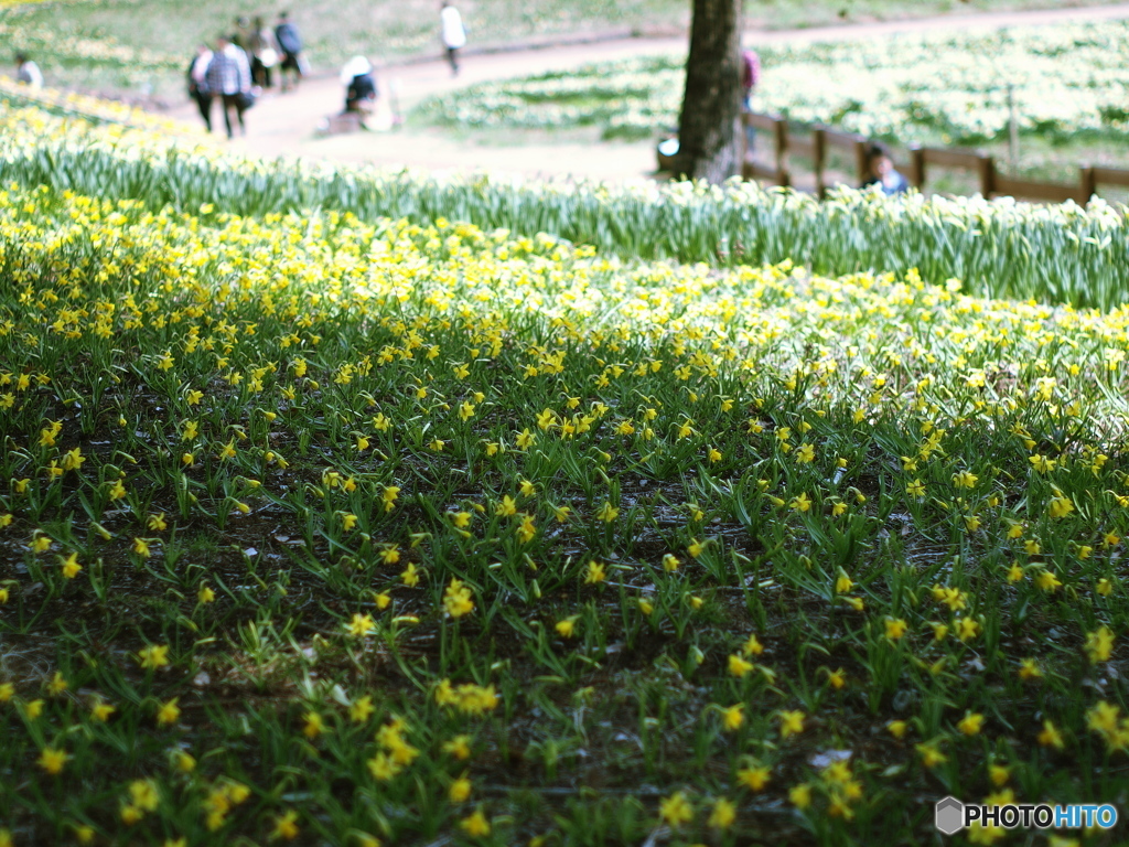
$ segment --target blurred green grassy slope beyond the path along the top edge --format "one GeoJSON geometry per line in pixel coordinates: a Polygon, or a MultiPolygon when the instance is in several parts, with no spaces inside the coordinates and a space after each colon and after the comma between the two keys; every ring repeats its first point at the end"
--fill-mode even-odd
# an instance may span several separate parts
{"type": "MultiPolygon", "coordinates": [[[[796,3],[750,0],[749,23],[770,28],[819,26],[984,9],[1058,8],[1053,0],[841,0],[796,3]]],[[[1068,3],[1094,6],[1095,2],[1068,3]]],[[[286,8],[298,24],[316,66],[334,67],[355,53],[396,59],[437,53],[436,0],[296,0],[255,6],[228,0],[89,0],[0,10],[0,34],[10,51],[27,50],[50,84],[142,96],[172,96],[182,86],[193,45],[230,32],[237,15],[272,21],[286,8]],[[147,51],[142,53],[141,51],[147,51]]],[[[520,42],[578,32],[682,30],[689,2],[577,0],[570,3],[466,0],[460,3],[471,46],[520,42]]]]}

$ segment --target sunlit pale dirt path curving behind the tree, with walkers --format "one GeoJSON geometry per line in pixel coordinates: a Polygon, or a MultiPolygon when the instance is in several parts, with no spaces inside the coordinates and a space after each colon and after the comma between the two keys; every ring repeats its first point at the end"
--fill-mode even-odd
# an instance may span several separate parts
{"type": "MultiPolygon", "coordinates": [[[[899,33],[943,29],[999,28],[1010,25],[1056,24],[1082,20],[1129,18],[1129,3],[1082,9],[953,15],[904,21],[884,21],[799,30],[749,32],[745,43],[811,43],[844,41],[899,33]]],[[[516,50],[467,55],[462,72],[452,77],[445,62],[420,61],[379,69],[383,93],[395,88],[400,111],[408,114],[422,99],[454,91],[474,82],[507,79],[543,70],[567,70],[581,64],[612,61],[637,55],[679,54],[686,49],[685,37],[616,38],[597,43],[516,50]]],[[[343,88],[336,76],[304,81],[295,93],[266,94],[247,113],[248,134],[233,146],[265,157],[298,155],[315,159],[371,163],[390,167],[420,167],[435,172],[488,169],[498,174],[526,177],[571,175],[584,180],[646,180],[655,167],[654,142],[564,143],[545,142],[523,146],[460,142],[449,133],[422,126],[404,125],[391,131],[360,132],[318,138],[315,129],[342,106],[343,88]]],[[[382,96],[382,108],[390,98],[382,96]]],[[[218,108],[216,110],[218,113],[218,108]]],[[[185,103],[172,113],[185,121],[199,122],[194,106],[185,103]]],[[[216,115],[218,117],[218,114],[216,115]]],[[[387,122],[390,115],[383,115],[387,122]]]]}

